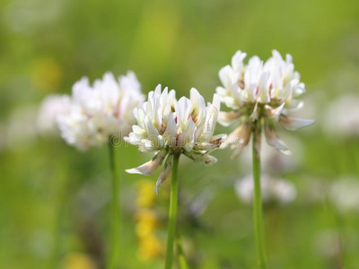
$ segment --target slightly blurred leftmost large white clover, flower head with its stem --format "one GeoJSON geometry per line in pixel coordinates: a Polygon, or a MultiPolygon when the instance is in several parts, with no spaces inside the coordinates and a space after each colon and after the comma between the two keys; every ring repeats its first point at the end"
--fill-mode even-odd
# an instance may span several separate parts
{"type": "Polygon", "coordinates": [[[129,134],[136,118],[132,110],[142,105],[144,95],[136,74],[129,71],[127,75],[115,79],[111,73],[103,75],[91,86],[87,77],[75,82],[72,89],[71,108],[57,118],[61,136],[70,145],[79,150],[91,146],[109,144],[109,163],[112,174],[112,227],[110,254],[107,268],[118,267],[119,258],[119,217],[121,206],[119,200],[119,173],[117,165],[117,144],[115,139],[122,139],[129,134]]]}

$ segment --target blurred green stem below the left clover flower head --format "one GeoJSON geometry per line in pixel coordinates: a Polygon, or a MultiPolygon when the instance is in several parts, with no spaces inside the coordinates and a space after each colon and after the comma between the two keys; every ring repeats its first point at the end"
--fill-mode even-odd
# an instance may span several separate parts
{"type": "Polygon", "coordinates": [[[117,151],[116,147],[111,144],[109,140],[109,165],[112,173],[112,202],[111,202],[111,214],[112,214],[112,227],[110,236],[110,256],[108,269],[118,268],[118,254],[119,254],[119,173],[117,164],[117,151]]]}

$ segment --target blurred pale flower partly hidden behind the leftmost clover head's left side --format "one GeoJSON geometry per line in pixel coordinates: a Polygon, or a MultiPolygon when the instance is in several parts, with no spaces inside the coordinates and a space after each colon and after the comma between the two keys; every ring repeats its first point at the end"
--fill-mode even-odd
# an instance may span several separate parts
{"type": "Polygon", "coordinates": [[[57,118],[68,114],[71,100],[67,95],[53,94],[45,98],[39,108],[37,128],[40,134],[57,134],[57,118]]]}

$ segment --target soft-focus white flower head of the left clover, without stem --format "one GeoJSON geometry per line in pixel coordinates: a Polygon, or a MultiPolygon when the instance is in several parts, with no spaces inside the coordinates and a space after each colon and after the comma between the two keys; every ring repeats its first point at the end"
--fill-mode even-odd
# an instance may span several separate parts
{"type": "Polygon", "coordinates": [[[91,86],[84,77],[74,83],[70,112],[58,117],[58,126],[67,143],[80,150],[101,145],[110,135],[127,135],[136,119],[133,108],[144,102],[136,74],[119,76],[106,73],[91,86]]]}

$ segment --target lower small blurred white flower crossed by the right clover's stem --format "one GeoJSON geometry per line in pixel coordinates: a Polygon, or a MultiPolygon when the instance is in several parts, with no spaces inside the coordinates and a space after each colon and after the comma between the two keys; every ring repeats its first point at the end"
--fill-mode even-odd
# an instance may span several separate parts
{"type": "MultiPolygon", "coordinates": [[[[292,202],[297,195],[296,188],[285,179],[274,178],[264,174],[260,181],[263,202],[288,204],[292,202]]],[[[238,179],[235,182],[235,191],[244,203],[251,204],[253,197],[252,175],[238,179]]]]}

